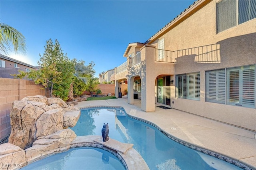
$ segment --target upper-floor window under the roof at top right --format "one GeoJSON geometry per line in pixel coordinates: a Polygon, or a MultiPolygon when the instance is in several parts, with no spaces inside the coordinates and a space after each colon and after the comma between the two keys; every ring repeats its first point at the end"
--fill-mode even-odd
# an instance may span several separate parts
{"type": "Polygon", "coordinates": [[[254,18],[256,0],[222,0],[217,3],[217,33],[254,18]]]}

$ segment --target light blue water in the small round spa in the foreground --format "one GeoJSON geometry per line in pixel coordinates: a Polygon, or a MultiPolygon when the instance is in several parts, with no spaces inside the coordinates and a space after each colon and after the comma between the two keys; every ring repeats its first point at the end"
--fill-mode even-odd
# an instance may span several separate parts
{"type": "Polygon", "coordinates": [[[73,148],[36,161],[22,170],[125,170],[113,154],[98,148],[73,148]]]}

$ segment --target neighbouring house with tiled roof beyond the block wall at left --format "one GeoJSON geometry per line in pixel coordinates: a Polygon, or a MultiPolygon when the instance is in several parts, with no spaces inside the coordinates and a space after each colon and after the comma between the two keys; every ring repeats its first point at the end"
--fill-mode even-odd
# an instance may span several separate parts
{"type": "Polygon", "coordinates": [[[14,78],[10,74],[19,74],[18,70],[29,72],[37,69],[38,67],[0,54],[0,77],[2,78],[14,78]]]}

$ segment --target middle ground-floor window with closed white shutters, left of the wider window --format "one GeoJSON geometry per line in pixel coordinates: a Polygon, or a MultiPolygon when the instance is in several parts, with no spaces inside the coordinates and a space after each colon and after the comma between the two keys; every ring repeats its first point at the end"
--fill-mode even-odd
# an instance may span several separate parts
{"type": "Polygon", "coordinates": [[[206,102],[225,104],[225,69],[206,72],[206,102]]]}

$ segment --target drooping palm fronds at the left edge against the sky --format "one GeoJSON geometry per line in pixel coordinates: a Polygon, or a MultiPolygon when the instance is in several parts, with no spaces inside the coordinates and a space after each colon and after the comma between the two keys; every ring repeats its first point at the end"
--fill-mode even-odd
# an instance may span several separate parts
{"type": "Polygon", "coordinates": [[[26,54],[26,39],[15,28],[0,23],[0,50],[5,54],[11,51],[13,47],[14,52],[26,54]]]}

